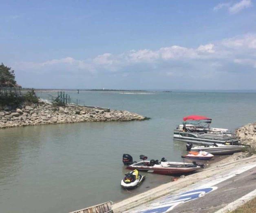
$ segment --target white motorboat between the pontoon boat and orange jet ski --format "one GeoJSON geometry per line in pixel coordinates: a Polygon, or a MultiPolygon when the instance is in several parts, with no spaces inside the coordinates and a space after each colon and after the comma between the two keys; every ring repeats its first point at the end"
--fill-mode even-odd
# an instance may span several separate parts
{"type": "Polygon", "coordinates": [[[190,150],[193,152],[205,151],[205,152],[209,152],[210,154],[225,155],[225,154],[234,154],[235,152],[243,152],[249,146],[213,143],[210,146],[195,146],[195,147],[193,147],[192,143],[187,143],[186,147],[187,147],[188,151],[190,151],[190,150]]]}

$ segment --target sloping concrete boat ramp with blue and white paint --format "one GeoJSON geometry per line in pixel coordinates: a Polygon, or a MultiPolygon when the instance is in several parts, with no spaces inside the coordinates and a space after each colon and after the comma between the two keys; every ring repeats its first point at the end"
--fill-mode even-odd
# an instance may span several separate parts
{"type": "MultiPolygon", "coordinates": [[[[224,213],[256,196],[256,156],[205,169],[111,205],[113,213],[224,213]],[[240,198],[244,199],[240,199],[240,198]],[[240,199],[240,200],[239,200],[240,199]]],[[[77,211],[83,213],[83,211],[77,211]]]]}

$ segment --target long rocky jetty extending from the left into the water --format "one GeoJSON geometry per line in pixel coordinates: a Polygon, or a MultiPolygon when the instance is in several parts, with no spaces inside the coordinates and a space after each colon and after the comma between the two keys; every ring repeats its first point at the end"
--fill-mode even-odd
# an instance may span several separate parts
{"type": "Polygon", "coordinates": [[[0,128],[56,123],[133,121],[146,119],[147,117],[128,111],[72,105],[54,107],[44,102],[23,105],[15,109],[12,109],[10,106],[0,106],[0,128]]]}

